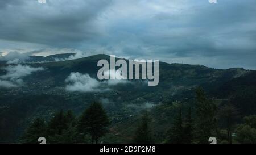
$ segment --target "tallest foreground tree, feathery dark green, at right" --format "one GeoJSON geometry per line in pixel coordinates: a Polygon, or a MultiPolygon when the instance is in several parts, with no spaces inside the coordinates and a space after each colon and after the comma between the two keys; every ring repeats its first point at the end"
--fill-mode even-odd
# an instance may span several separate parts
{"type": "Polygon", "coordinates": [[[196,138],[199,143],[208,143],[209,137],[216,133],[217,107],[208,99],[201,87],[196,89],[196,138]]]}

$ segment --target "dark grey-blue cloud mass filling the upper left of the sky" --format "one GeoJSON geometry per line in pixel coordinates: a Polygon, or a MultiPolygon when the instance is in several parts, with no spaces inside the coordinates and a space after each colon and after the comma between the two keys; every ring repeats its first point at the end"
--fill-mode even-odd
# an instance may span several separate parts
{"type": "Polygon", "coordinates": [[[111,1],[13,1],[0,10],[1,39],[72,47],[101,35],[97,14],[111,1]]]}

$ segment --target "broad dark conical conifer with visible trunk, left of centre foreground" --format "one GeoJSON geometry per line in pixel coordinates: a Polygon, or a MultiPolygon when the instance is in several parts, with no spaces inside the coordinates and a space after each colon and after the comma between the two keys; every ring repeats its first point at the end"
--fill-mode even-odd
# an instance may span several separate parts
{"type": "Polygon", "coordinates": [[[78,130],[80,133],[89,133],[92,143],[96,141],[97,144],[98,139],[108,132],[109,125],[110,121],[102,104],[100,102],[93,102],[82,114],[78,130]]]}

